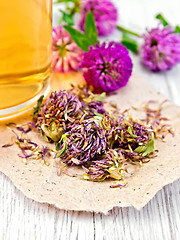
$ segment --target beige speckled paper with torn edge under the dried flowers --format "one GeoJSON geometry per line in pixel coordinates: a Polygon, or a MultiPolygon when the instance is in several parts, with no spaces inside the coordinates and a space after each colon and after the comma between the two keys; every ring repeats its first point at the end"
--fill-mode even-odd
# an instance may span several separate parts
{"type": "MultiPolygon", "coordinates": [[[[63,75],[54,78],[60,78],[59,82],[53,82],[53,88],[57,90],[67,88],[73,79],[76,79],[75,82],[82,80],[80,74],[70,75],[70,80],[63,75]]],[[[165,97],[157,93],[145,80],[132,76],[128,85],[109,96],[107,101],[117,103],[123,110],[132,105],[140,106],[144,101],[157,100],[161,103],[164,99],[165,97]]],[[[22,115],[13,121],[27,122],[30,120],[29,116],[22,115]]],[[[53,204],[60,209],[102,213],[107,213],[116,206],[133,206],[140,209],[163,186],[180,178],[180,108],[168,102],[164,105],[163,116],[171,119],[175,137],[168,135],[166,143],[155,141],[155,149],[159,151],[158,157],[138,167],[135,173],[127,178],[128,184],[124,188],[110,188],[113,180],[90,182],[65,174],[57,176],[58,164],[54,159],[49,159],[49,166],[42,164],[41,160],[28,160],[28,164],[25,165],[17,156],[20,153],[17,145],[0,147],[0,171],[27,197],[53,204]]],[[[8,143],[11,136],[11,131],[1,123],[0,146],[8,143]]],[[[30,132],[28,136],[35,142],[44,144],[38,133],[30,132]]]]}

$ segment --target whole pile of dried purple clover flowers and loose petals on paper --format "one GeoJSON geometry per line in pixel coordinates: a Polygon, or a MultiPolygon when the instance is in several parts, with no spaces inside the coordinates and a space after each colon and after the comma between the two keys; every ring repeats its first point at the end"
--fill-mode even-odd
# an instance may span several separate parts
{"type": "Polygon", "coordinates": [[[123,180],[129,165],[142,165],[155,157],[154,138],[173,135],[172,127],[165,123],[168,119],[161,115],[162,105],[154,110],[147,103],[146,118],[135,120],[129,110],[106,110],[104,98],[104,93],[93,94],[88,86],[52,92],[46,100],[41,97],[32,122],[13,124],[21,133],[13,131],[22,152],[19,157],[25,163],[35,158],[48,165],[52,155],[64,166],[81,166],[86,180],[123,180]],[[38,146],[24,138],[31,130],[41,132],[55,147],[38,146]]]}

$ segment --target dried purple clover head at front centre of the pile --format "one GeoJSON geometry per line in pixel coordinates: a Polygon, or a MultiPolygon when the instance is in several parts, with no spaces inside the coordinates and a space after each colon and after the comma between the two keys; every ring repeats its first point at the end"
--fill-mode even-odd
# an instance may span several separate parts
{"type": "Polygon", "coordinates": [[[71,126],[56,145],[56,157],[66,164],[83,165],[106,149],[106,137],[101,127],[101,118],[82,120],[71,126]]]}

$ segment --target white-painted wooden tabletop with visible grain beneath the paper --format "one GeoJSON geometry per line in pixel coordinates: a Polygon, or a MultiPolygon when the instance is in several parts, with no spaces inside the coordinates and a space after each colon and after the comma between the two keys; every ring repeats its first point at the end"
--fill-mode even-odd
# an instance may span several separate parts
{"type": "MultiPolygon", "coordinates": [[[[180,23],[179,0],[114,0],[119,22],[138,32],[156,26],[153,16],[163,12],[172,24],[180,23]]],[[[54,22],[57,22],[55,9],[54,22]]],[[[113,40],[119,39],[116,31],[113,40]]],[[[151,73],[132,56],[134,72],[180,105],[180,66],[167,73],[151,73]]],[[[140,211],[115,208],[109,215],[58,210],[26,198],[11,181],[0,174],[0,239],[180,239],[180,180],[165,186],[140,211]]]]}

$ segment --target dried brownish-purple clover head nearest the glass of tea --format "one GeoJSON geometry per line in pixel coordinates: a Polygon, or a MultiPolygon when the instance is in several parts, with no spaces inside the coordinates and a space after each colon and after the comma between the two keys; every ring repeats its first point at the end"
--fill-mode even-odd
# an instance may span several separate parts
{"type": "Polygon", "coordinates": [[[71,91],[52,92],[36,113],[36,126],[46,140],[58,141],[62,134],[82,116],[82,104],[71,91]]]}

